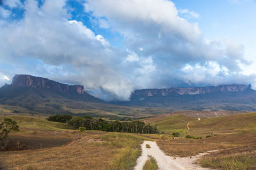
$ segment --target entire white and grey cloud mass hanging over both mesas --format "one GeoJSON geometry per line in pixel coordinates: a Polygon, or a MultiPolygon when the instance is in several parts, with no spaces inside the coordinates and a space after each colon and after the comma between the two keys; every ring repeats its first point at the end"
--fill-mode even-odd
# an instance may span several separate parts
{"type": "Polygon", "coordinates": [[[121,47],[74,19],[66,5],[65,0],[45,0],[42,6],[27,0],[24,18],[2,21],[0,62],[14,71],[3,67],[0,73],[79,83],[97,97],[122,100],[134,89],[248,83],[253,78],[241,74],[241,64],[250,64],[242,45],[204,39],[198,24],[182,17],[172,1],[86,1],[84,12],[100,29],[122,36],[121,47]]]}

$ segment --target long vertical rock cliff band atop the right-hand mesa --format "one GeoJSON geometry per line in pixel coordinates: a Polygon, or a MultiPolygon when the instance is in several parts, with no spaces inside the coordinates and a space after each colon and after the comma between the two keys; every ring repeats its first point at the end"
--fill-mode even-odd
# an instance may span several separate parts
{"type": "Polygon", "coordinates": [[[189,88],[170,88],[170,89],[142,89],[135,90],[131,99],[142,99],[143,97],[164,97],[175,95],[196,95],[211,94],[216,92],[239,92],[250,89],[250,85],[219,85],[217,87],[189,87],[189,88]]]}

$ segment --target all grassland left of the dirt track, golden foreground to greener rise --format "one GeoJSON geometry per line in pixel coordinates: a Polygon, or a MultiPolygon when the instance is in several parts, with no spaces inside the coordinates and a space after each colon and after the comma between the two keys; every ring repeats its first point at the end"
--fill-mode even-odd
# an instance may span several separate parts
{"type": "MultiPolygon", "coordinates": [[[[0,121],[4,118],[0,117],[0,121]]],[[[23,138],[26,145],[38,147],[0,152],[4,169],[132,169],[141,153],[140,144],[148,140],[137,134],[67,130],[63,129],[65,124],[48,122],[45,118],[20,115],[10,118],[20,126],[20,132],[12,132],[10,140],[19,140],[22,145],[23,138]],[[59,146],[51,145],[51,141],[57,141],[59,146]]]]}

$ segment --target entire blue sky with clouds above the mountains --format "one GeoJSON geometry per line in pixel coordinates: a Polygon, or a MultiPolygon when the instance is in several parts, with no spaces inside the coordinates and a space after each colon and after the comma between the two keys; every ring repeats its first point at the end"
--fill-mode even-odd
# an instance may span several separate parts
{"type": "Polygon", "coordinates": [[[0,87],[15,74],[136,89],[252,84],[255,0],[0,0],[0,87]]]}

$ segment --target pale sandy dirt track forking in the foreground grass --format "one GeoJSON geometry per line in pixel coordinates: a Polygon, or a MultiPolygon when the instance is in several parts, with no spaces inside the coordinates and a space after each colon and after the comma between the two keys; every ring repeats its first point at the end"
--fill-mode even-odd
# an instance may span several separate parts
{"type": "Polygon", "coordinates": [[[173,157],[167,156],[164,154],[162,150],[157,146],[156,142],[154,141],[144,141],[143,144],[141,144],[142,154],[137,159],[137,165],[134,167],[134,170],[141,170],[143,169],[143,166],[145,162],[147,162],[148,155],[151,155],[156,159],[157,166],[160,170],[187,170],[187,169],[207,169],[200,167],[197,164],[193,164],[197,159],[199,159],[202,155],[205,155],[207,153],[200,153],[199,155],[196,155],[192,158],[180,158],[176,157],[175,159],[173,157]],[[150,145],[150,148],[146,148],[146,145],[150,145]]]}

